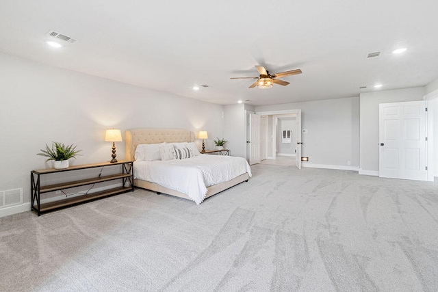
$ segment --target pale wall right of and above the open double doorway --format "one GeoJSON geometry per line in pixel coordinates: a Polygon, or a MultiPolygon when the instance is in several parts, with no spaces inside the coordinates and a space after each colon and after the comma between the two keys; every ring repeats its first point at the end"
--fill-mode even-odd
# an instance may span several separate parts
{"type": "Polygon", "coordinates": [[[301,135],[302,156],[309,157],[308,166],[359,167],[359,96],[255,107],[257,113],[287,109],[301,109],[301,128],[308,131],[301,135]]]}

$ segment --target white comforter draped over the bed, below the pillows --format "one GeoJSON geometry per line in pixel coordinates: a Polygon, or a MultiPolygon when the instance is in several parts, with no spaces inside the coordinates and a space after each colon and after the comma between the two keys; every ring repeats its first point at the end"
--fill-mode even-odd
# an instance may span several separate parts
{"type": "Polygon", "coordinates": [[[242,157],[198,155],[188,159],[134,162],[134,178],[181,191],[201,204],[207,187],[224,183],[251,169],[242,157]]]}

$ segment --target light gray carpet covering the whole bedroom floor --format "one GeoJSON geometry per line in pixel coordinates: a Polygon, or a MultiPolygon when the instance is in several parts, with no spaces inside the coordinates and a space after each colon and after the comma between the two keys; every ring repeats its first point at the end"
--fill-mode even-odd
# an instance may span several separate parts
{"type": "Polygon", "coordinates": [[[252,169],[200,206],[137,189],[0,218],[0,291],[438,291],[436,182],[252,169]]]}

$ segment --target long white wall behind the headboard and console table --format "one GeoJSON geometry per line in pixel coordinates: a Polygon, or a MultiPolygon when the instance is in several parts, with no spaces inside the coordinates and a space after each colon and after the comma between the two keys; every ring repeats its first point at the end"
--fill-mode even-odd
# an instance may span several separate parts
{"type": "MultiPolygon", "coordinates": [[[[103,142],[107,128],[190,129],[196,136],[205,129],[209,137],[224,136],[222,105],[1,53],[0,64],[0,191],[23,188],[29,209],[29,173],[51,168],[36,153],[52,141],[77,145],[83,156],[70,164],[79,165],[111,159],[112,145],[103,142]]],[[[213,147],[213,139],[207,145],[213,147]]],[[[116,147],[117,158],[124,159],[124,143],[116,147]]]]}

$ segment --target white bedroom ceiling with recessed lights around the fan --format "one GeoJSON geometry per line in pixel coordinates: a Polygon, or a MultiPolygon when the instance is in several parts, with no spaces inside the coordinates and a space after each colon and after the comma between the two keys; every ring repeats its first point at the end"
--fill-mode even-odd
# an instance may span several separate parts
{"type": "Polygon", "coordinates": [[[294,103],[437,79],[437,11],[437,0],[1,0],[0,52],[222,105],[294,103]],[[78,42],[48,47],[50,30],[78,42]],[[258,76],[255,65],[302,74],[268,90],[230,79],[258,76]]]}

